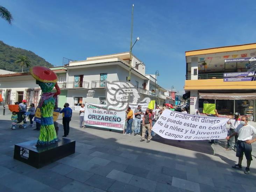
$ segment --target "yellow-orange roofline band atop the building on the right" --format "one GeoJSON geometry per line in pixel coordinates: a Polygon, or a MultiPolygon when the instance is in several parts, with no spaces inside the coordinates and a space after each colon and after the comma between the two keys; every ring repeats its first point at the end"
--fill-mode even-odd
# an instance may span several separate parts
{"type": "Polygon", "coordinates": [[[248,50],[248,49],[256,49],[256,43],[185,51],[185,55],[186,56],[204,55],[204,54],[212,54],[212,53],[218,53],[218,52],[242,51],[242,50],[248,50]]]}

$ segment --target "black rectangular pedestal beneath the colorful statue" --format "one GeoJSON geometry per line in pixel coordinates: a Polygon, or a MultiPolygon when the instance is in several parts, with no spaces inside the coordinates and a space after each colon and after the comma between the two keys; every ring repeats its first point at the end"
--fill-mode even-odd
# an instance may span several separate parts
{"type": "Polygon", "coordinates": [[[75,152],[76,141],[67,138],[58,139],[58,142],[47,146],[36,147],[37,140],[15,144],[14,159],[41,168],[75,152]]]}

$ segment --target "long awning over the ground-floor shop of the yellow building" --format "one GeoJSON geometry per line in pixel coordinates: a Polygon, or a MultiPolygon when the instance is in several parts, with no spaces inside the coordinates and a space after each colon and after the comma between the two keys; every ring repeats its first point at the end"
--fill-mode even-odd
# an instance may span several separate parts
{"type": "Polygon", "coordinates": [[[246,93],[201,93],[199,99],[219,99],[219,100],[251,100],[256,99],[255,92],[246,93]]]}

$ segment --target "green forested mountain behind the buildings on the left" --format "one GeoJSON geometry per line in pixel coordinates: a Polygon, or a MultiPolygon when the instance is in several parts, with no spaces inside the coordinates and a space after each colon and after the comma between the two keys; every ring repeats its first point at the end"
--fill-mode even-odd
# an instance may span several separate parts
{"type": "MultiPolygon", "coordinates": [[[[53,67],[52,64],[45,61],[44,58],[36,55],[32,51],[28,51],[21,48],[12,47],[0,41],[0,69],[14,72],[21,72],[21,66],[19,64],[15,64],[18,55],[25,55],[28,57],[31,62],[31,66],[45,66],[45,67],[53,67]]],[[[30,67],[23,67],[23,72],[28,72],[30,67]]]]}

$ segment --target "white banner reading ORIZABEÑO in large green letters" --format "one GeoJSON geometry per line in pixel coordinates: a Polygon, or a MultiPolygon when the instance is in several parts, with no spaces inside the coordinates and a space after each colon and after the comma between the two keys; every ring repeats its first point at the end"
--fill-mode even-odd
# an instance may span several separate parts
{"type": "Polygon", "coordinates": [[[123,130],[125,119],[125,111],[107,110],[106,105],[85,104],[85,125],[123,130]]]}

